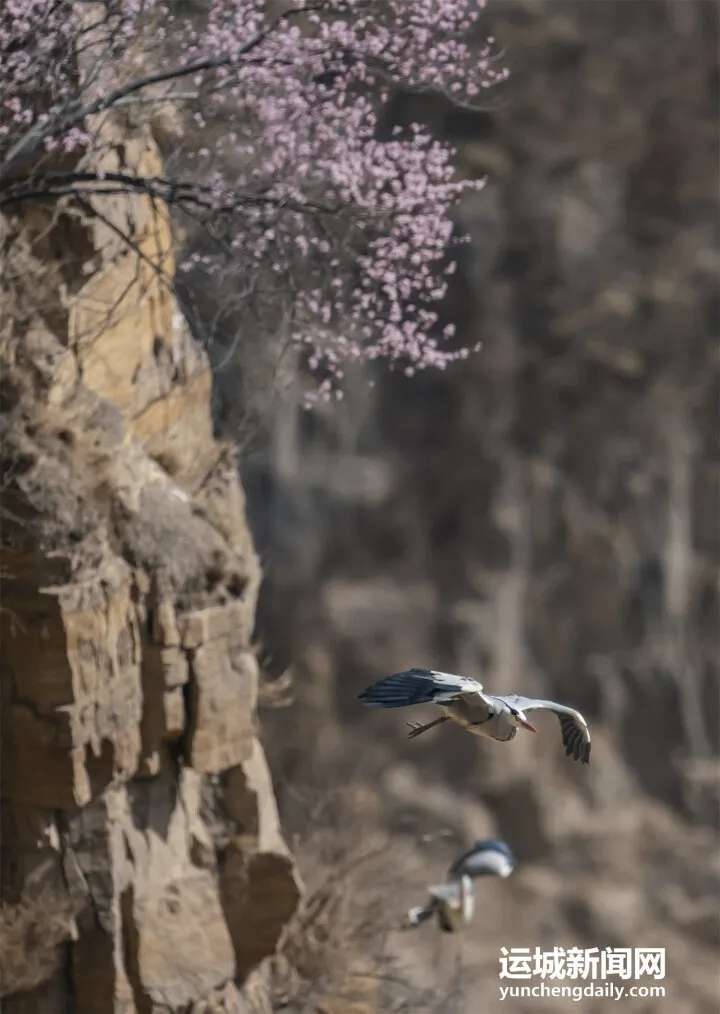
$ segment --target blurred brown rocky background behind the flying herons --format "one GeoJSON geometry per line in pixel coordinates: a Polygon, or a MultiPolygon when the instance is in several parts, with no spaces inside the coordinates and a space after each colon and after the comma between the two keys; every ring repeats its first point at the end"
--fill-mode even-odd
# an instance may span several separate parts
{"type": "MultiPolygon", "coordinates": [[[[502,1009],[503,944],[609,945],[667,949],[668,999],[631,1009],[709,1014],[718,5],[507,0],[487,23],[512,77],[486,113],[393,108],[430,117],[461,171],[488,177],[458,218],[472,242],[446,306],[482,351],[445,374],[358,376],[327,415],[279,397],[244,458],[257,638],[270,687],[294,695],[263,712],[280,809],[310,878],[328,810],[348,849],[385,836],[358,876],[367,893],[387,878],[386,929],[474,838],[517,853],[460,939],[383,938],[426,991],[407,1009],[502,1009]],[[408,741],[421,710],[356,695],[412,664],[575,705],[592,763],[565,758],[550,716],[511,747],[446,726],[408,741]]],[[[218,389],[231,428],[231,370],[218,389]]],[[[369,1009],[400,1009],[402,988],[382,988],[369,1009]]]]}

